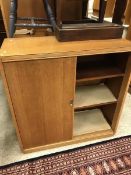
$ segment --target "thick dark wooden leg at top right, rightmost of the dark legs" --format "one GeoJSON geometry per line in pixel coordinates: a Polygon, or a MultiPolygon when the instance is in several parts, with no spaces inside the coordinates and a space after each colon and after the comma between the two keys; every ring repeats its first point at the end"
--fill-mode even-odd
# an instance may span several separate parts
{"type": "Polygon", "coordinates": [[[113,14],[113,23],[122,24],[122,18],[126,9],[127,0],[116,0],[114,14],[113,14]]]}

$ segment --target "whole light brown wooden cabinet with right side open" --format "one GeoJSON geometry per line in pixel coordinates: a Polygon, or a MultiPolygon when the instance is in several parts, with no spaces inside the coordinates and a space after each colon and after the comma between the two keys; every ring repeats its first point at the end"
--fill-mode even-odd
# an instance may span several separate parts
{"type": "Polygon", "coordinates": [[[129,41],[6,39],[0,58],[25,153],[115,134],[131,73],[129,41]]]}

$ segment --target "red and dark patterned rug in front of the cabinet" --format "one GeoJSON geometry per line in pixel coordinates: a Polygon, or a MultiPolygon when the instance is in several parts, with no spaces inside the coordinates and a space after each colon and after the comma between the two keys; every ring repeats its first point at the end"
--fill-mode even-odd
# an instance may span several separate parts
{"type": "Polygon", "coordinates": [[[131,136],[0,167],[0,175],[131,175],[131,136]]]}

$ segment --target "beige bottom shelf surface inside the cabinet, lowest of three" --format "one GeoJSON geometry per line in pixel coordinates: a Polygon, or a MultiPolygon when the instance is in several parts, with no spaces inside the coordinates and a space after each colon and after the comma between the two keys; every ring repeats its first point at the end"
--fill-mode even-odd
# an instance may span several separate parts
{"type": "Polygon", "coordinates": [[[111,129],[100,109],[75,113],[73,136],[111,129]]]}

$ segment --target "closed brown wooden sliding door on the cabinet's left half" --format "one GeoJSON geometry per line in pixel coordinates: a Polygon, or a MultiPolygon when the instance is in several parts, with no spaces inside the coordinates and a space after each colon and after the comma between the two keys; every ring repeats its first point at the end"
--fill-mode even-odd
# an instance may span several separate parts
{"type": "Polygon", "coordinates": [[[73,109],[69,100],[74,94],[68,89],[74,89],[74,60],[4,63],[24,149],[71,139],[73,109]]]}

